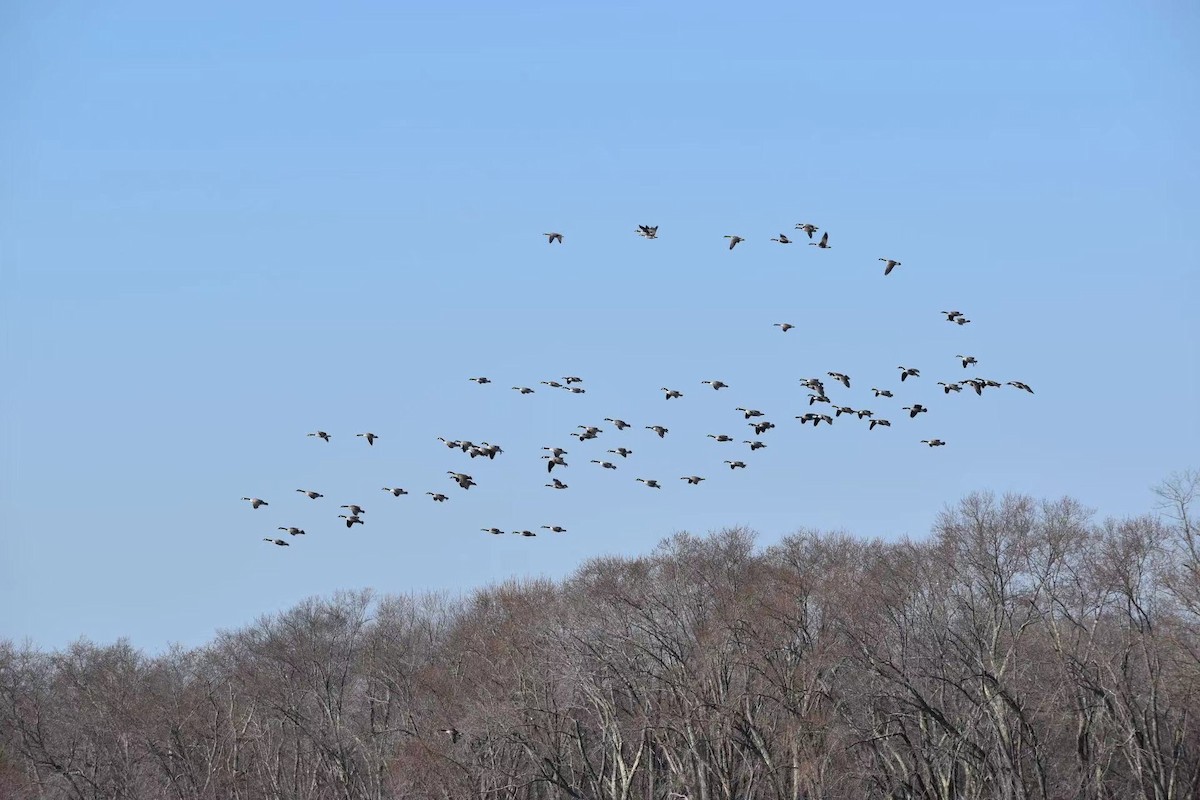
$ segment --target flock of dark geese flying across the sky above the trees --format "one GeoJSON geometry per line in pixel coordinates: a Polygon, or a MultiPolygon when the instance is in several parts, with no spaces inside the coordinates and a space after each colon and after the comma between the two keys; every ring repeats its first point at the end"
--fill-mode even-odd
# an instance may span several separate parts
{"type": "MultiPolygon", "coordinates": [[[[798,223],[796,225],[796,229],[800,230],[802,233],[804,233],[810,240],[812,240],[814,235],[816,234],[816,231],[820,230],[820,228],[817,228],[815,224],[811,224],[811,223],[808,223],[808,222],[798,223]]],[[[658,235],[659,235],[658,231],[659,231],[659,227],[658,225],[637,225],[637,228],[635,229],[635,233],[638,236],[642,236],[643,239],[658,239],[658,235]]],[[[551,233],[546,233],[546,234],[542,234],[542,235],[546,236],[547,243],[551,243],[551,245],[554,245],[554,243],[562,245],[563,243],[563,234],[560,234],[560,233],[551,231],[551,233]]],[[[728,240],[728,242],[730,242],[728,243],[728,248],[731,251],[734,247],[737,247],[739,243],[746,241],[743,236],[738,236],[738,235],[734,235],[734,234],[727,234],[725,236],[725,239],[728,240]]],[[[779,236],[772,237],[772,241],[773,242],[778,242],[780,245],[791,245],[791,243],[793,243],[793,240],[791,237],[788,237],[786,234],[782,234],[782,233],[779,234],[779,236]]],[[[824,231],[821,235],[820,240],[810,241],[809,245],[811,245],[814,247],[817,247],[820,249],[830,249],[829,231],[824,231]]],[[[878,260],[883,261],[883,264],[884,264],[884,266],[883,266],[883,275],[884,276],[890,275],[892,271],[895,267],[898,267],[898,266],[901,265],[900,261],[898,261],[895,259],[892,259],[892,258],[880,258],[878,260]]],[[[943,311],[941,313],[946,317],[946,321],[952,323],[952,324],[958,325],[958,326],[967,325],[967,324],[971,323],[971,320],[961,311],[943,311]]],[[[780,329],[780,331],[784,332],[784,333],[787,333],[790,330],[792,330],[792,329],[796,327],[796,325],[793,325],[792,323],[775,323],[774,326],[778,327],[778,329],[780,329]]],[[[962,365],[962,369],[967,369],[967,368],[970,368],[972,366],[978,365],[978,359],[976,359],[973,355],[962,355],[962,354],[959,354],[959,355],[955,355],[954,357],[962,365]]],[[[920,369],[918,369],[916,367],[910,367],[910,366],[900,365],[900,366],[896,367],[896,369],[899,369],[899,378],[900,378],[901,383],[907,381],[910,378],[912,378],[913,380],[917,380],[917,379],[922,378],[920,369]]],[[[845,374],[845,373],[841,373],[841,372],[827,372],[824,377],[832,379],[833,384],[839,384],[839,385],[841,385],[845,389],[850,389],[851,387],[851,377],[848,374],[845,374]]],[[[485,385],[488,385],[488,384],[493,383],[491,380],[491,378],[487,378],[485,375],[476,375],[476,377],[469,378],[469,380],[473,381],[473,383],[475,383],[475,384],[478,384],[478,385],[480,385],[480,386],[485,386],[485,385]]],[[[569,393],[572,393],[572,395],[583,395],[583,393],[586,393],[587,390],[583,386],[580,385],[582,383],[583,383],[583,379],[580,378],[578,375],[564,375],[564,377],[562,377],[560,380],[542,380],[542,381],[540,381],[540,385],[547,386],[550,389],[562,390],[564,392],[569,392],[569,393]]],[[[808,404],[809,404],[809,407],[812,408],[812,409],[817,409],[817,408],[822,409],[822,410],[810,410],[810,411],[806,411],[804,414],[796,415],[794,419],[798,420],[802,426],[805,425],[805,423],[811,423],[814,428],[818,427],[822,423],[824,423],[826,426],[833,426],[834,425],[834,420],[838,420],[838,419],[845,416],[846,419],[857,420],[859,423],[865,423],[868,426],[869,431],[874,431],[877,427],[887,427],[887,428],[892,427],[892,422],[889,420],[887,420],[887,419],[884,419],[882,416],[877,416],[876,413],[874,410],[871,410],[871,409],[865,409],[865,408],[856,409],[856,408],[852,408],[850,405],[840,405],[840,404],[838,404],[827,393],[827,391],[826,391],[826,383],[824,383],[824,379],[822,377],[802,378],[799,383],[800,383],[800,385],[803,387],[805,387],[805,389],[809,390],[809,395],[808,395],[808,404]],[[823,409],[828,409],[829,413],[823,413],[823,409]]],[[[716,380],[716,379],[702,380],[701,385],[702,386],[708,386],[709,389],[712,389],[714,391],[720,391],[722,389],[728,389],[728,386],[730,386],[724,380],[716,380]]],[[[970,387],[971,390],[974,391],[976,395],[982,396],[983,392],[984,392],[984,390],[1001,389],[1003,386],[1012,386],[1012,387],[1014,387],[1014,389],[1016,389],[1019,391],[1028,392],[1030,395],[1033,393],[1033,390],[1028,386],[1028,384],[1025,384],[1025,383],[1022,383],[1020,380],[1009,380],[1009,381],[1006,381],[1006,383],[1002,384],[1002,383],[1000,383],[997,380],[992,380],[990,378],[979,378],[979,377],[965,378],[965,379],[953,380],[953,381],[942,381],[942,380],[940,380],[940,381],[937,381],[937,385],[942,387],[942,391],[946,395],[949,395],[950,392],[958,393],[958,392],[961,392],[964,390],[964,387],[970,387]]],[[[516,391],[516,392],[518,392],[521,395],[533,395],[533,393],[535,393],[536,390],[533,389],[532,386],[521,386],[521,385],[517,385],[517,386],[512,386],[512,391],[516,391]]],[[[664,397],[667,401],[683,399],[683,397],[684,397],[684,392],[683,391],[680,391],[678,389],[672,389],[672,387],[668,387],[668,386],[662,386],[662,387],[659,389],[659,391],[661,391],[664,393],[664,397]]],[[[871,387],[871,392],[874,393],[875,398],[890,399],[890,398],[894,397],[892,390],[888,390],[888,389],[878,389],[878,387],[872,386],[871,387]]],[[[768,433],[770,429],[773,429],[775,427],[774,422],[770,422],[770,421],[763,419],[766,415],[763,414],[763,411],[761,411],[758,409],[737,407],[734,410],[738,411],[738,413],[740,413],[743,415],[743,419],[744,419],[745,423],[748,425],[748,427],[750,427],[754,431],[754,435],[755,437],[762,437],[762,435],[764,435],[766,433],[768,433]]],[[[904,405],[904,407],[901,407],[901,410],[907,411],[907,415],[908,415],[910,420],[916,419],[918,415],[926,414],[929,411],[929,409],[925,408],[924,405],[922,405],[920,403],[913,403],[912,405],[904,405]]],[[[618,417],[605,417],[604,421],[607,422],[607,423],[610,423],[617,431],[625,431],[628,428],[634,427],[629,422],[626,422],[625,420],[622,420],[622,419],[618,419],[618,417]]],[[[581,444],[584,443],[584,441],[598,439],[600,437],[600,434],[602,434],[605,432],[604,428],[601,428],[600,426],[594,426],[594,425],[580,425],[580,426],[577,426],[577,428],[578,428],[577,431],[570,433],[569,435],[571,435],[575,439],[578,439],[578,441],[581,444]]],[[[665,427],[662,425],[647,425],[647,426],[643,426],[643,428],[647,429],[647,431],[649,431],[649,432],[652,432],[659,439],[665,439],[667,437],[667,434],[670,433],[670,428],[667,428],[667,427],[665,427]]],[[[313,431],[313,432],[308,433],[307,435],[308,437],[313,437],[316,439],[320,439],[322,441],[324,441],[326,444],[329,444],[332,440],[332,434],[330,434],[330,433],[328,433],[325,431],[313,431]]],[[[356,433],[354,435],[355,435],[355,438],[364,439],[368,446],[374,446],[374,443],[380,438],[378,434],[372,433],[372,432],[362,432],[362,433],[356,433]]],[[[724,434],[724,433],[709,433],[709,434],[707,434],[707,437],[710,438],[710,439],[713,439],[714,441],[718,441],[718,443],[734,443],[736,444],[736,443],[740,441],[740,444],[748,446],[748,450],[749,450],[750,453],[754,453],[755,451],[762,450],[763,447],[767,446],[767,444],[764,441],[762,441],[762,440],[760,440],[757,438],[755,438],[755,439],[742,439],[742,440],[738,440],[734,437],[731,437],[731,435],[724,434]]],[[[504,449],[503,447],[500,447],[497,444],[488,443],[488,441],[474,443],[474,441],[463,440],[463,439],[446,439],[444,437],[438,437],[438,441],[440,441],[443,445],[445,445],[450,450],[461,451],[462,453],[466,453],[472,459],[486,458],[487,461],[494,461],[497,456],[504,453],[504,449]]],[[[938,439],[938,438],[922,439],[920,444],[926,445],[929,447],[942,447],[942,446],[946,446],[946,441],[943,439],[938,439]]],[[[541,458],[546,462],[546,473],[547,473],[548,480],[550,480],[550,482],[545,483],[545,486],[547,488],[554,489],[554,491],[568,489],[569,485],[566,482],[564,482],[560,477],[554,476],[553,471],[554,471],[556,467],[559,468],[559,469],[565,469],[565,468],[569,467],[569,462],[566,461],[566,456],[569,455],[569,452],[564,447],[559,447],[559,446],[544,446],[542,450],[545,452],[542,453],[541,458]]],[[[620,463],[624,463],[626,459],[629,459],[630,456],[634,455],[634,451],[631,449],[626,447],[626,446],[618,446],[618,447],[613,447],[613,449],[607,450],[606,455],[607,453],[612,453],[617,459],[620,461],[620,463]]],[[[605,457],[592,458],[592,459],[589,459],[589,463],[596,464],[596,465],[600,467],[600,469],[605,469],[605,470],[617,470],[618,469],[618,462],[610,461],[610,459],[607,459],[605,457]]],[[[732,459],[732,458],[731,459],[725,459],[724,463],[731,470],[746,469],[746,463],[744,461],[740,461],[740,459],[732,459]]],[[[454,481],[454,483],[461,491],[469,491],[470,487],[479,486],[479,483],[475,482],[474,476],[472,476],[472,475],[469,475],[467,473],[460,473],[460,471],[455,471],[455,470],[446,470],[446,475],[449,476],[449,479],[451,481],[454,481]]],[[[642,483],[643,486],[646,486],[647,488],[650,488],[650,489],[661,489],[662,488],[662,483],[660,482],[659,479],[653,479],[653,477],[636,477],[635,480],[638,483],[642,483]]],[[[679,476],[678,480],[684,481],[688,486],[700,486],[700,483],[702,481],[707,480],[707,479],[704,476],[702,476],[702,475],[683,475],[683,476],[679,476]]],[[[395,498],[400,498],[400,497],[409,494],[409,492],[407,489],[402,488],[402,487],[388,487],[388,486],[385,486],[385,487],[383,487],[383,491],[388,492],[389,494],[391,494],[395,498]]],[[[319,493],[317,491],[313,491],[313,489],[300,488],[300,489],[296,489],[296,492],[300,493],[300,494],[304,494],[310,500],[320,500],[320,499],[323,499],[325,497],[324,494],[322,494],[322,493],[319,493]]],[[[450,494],[446,494],[444,492],[427,491],[427,492],[425,492],[425,494],[427,497],[430,497],[434,503],[446,503],[446,501],[450,500],[450,494]]],[[[245,500],[245,501],[247,501],[250,504],[251,509],[254,509],[254,510],[262,509],[264,506],[269,506],[270,505],[266,500],[263,500],[262,498],[244,497],[241,499],[245,500]]],[[[356,503],[347,503],[347,504],[340,505],[338,509],[346,511],[346,513],[337,515],[337,518],[341,519],[341,521],[343,521],[343,523],[346,524],[347,528],[353,528],[354,525],[364,525],[365,524],[364,515],[366,513],[366,509],[362,507],[361,505],[359,505],[356,503]]],[[[305,535],[305,530],[302,528],[298,528],[298,527],[294,527],[294,525],[280,525],[280,527],[276,528],[276,530],[282,530],[289,537],[295,537],[295,536],[302,536],[302,535],[305,535]]],[[[487,534],[492,534],[494,536],[504,535],[506,533],[508,534],[512,534],[512,535],[517,535],[517,536],[524,536],[524,537],[532,537],[532,536],[536,536],[538,535],[538,533],[535,530],[524,529],[524,528],[516,529],[516,530],[510,530],[510,531],[505,531],[505,530],[503,530],[500,528],[496,528],[496,527],[485,527],[485,528],[480,528],[480,530],[484,531],[484,533],[487,533],[487,534]]],[[[550,531],[552,534],[564,534],[564,533],[566,533],[566,528],[564,528],[562,525],[558,525],[558,524],[541,525],[538,530],[547,530],[547,531],[550,531]]],[[[270,542],[271,545],[275,545],[275,546],[278,546],[278,547],[288,547],[290,545],[287,539],[282,539],[280,536],[266,536],[266,537],[263,539],[263,541],[270,542]]]]}

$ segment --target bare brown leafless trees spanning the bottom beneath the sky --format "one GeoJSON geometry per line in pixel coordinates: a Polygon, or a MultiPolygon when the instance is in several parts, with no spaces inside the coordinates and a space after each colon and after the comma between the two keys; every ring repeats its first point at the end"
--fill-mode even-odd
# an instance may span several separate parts
{"type": "Polygon", "coordinates": [[[920,541],[677,534],[564,581],[313,599],[197,649],[0,643],[0,796],[1200,796],[1200,473],[920,541]]]}

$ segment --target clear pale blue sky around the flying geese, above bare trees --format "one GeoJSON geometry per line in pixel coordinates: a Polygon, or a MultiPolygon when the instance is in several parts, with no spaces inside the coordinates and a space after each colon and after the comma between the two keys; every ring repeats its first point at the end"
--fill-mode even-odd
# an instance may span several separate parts
{"type": "Polygon", "coordinates": [[[1200,467],[1196,42],[1183,0],[4,4],[0,638],[199,645],[679,530],[923,537],[982,489],[1148,512],[1200,467]],[[770,241],[798,222],[832,248],[770,241]],[[802,428],[830,371],[892,427],[802,428]],[[1036,393],[936,385],[974,375],[1036,393]]]}

